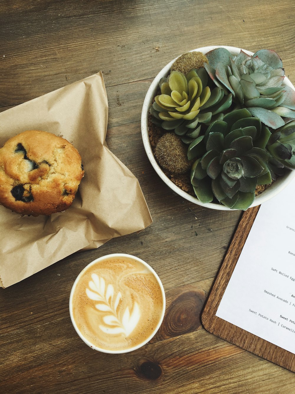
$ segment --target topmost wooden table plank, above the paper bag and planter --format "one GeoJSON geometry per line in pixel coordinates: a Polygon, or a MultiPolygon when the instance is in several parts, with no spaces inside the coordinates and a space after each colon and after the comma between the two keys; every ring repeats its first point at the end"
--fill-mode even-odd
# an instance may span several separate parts
{"type": "Polygon", "coordinates": [[[64,2],[63,10],[53,0],[16,4],[0,7],[1,74],[6,84],[6,89],[1,89],[0,106],[39,97],[100,70],[106,86],[153,78],[181,53],[216,44],[220,12],[227,15],[228,22],[223,26],[222,42],[217,44],[239,43],[253,51],[273,48],[282,57],[286,74],[295,80],[292,23],[285,17],[294,9],[292,1],[262,0],[257,4],[251,0],[241,8],[230,2],[220,6],[217,0],[201,7],[190,1],[181,13],[173,0],[126,2],[124,6],[91,1],[91,12],[83,3],[64,2]],[[256,15],[266,8],[268,17],[260,18],[258,24],[256,15]],[[281,41],[274,34],[257,34],[282,29],[281,41]]]}

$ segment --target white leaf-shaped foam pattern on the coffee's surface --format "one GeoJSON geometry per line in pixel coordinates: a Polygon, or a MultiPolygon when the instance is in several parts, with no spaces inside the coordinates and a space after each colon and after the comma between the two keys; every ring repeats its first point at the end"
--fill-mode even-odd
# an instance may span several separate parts
{"type": "Polygon", "coordinates": [[[93,301],[96,309],[104,313],[103,324],[99,325],[101,331],[106,334],[120,334],[129,336],[139,322],[140,310],[136,301],[134,302],[132,312],[126,307],[123,313],[120,313],[120,301],[122,294],[117,293],[115,297],[114,286],[109,283],[106,286],[105,280],[93,273],[92,281],[89,281],[89,288],[86,288],[87,297],[93,301]],[[122,316],[122,318],[121,318],[122,316]]]}

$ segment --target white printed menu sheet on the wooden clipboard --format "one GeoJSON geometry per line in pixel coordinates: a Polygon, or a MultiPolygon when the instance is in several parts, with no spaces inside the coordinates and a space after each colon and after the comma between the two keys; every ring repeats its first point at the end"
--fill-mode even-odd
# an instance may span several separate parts
{"type": "Polygon", "coordinates": [[[260,206],[216,316],[295,354],[295,180],[260,206]]]}

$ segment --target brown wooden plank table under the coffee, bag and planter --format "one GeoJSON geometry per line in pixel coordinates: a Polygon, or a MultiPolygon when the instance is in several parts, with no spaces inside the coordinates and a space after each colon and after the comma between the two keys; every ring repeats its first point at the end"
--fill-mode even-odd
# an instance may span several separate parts
{"type": "Polygon", "coordinates": [[[0,289],[2,393],[293,393],[295,375],[203,329],[200,314],[241,212],[201,208],[173,193],[141,139],[142,103],[171,59],[207,45],[272,48],[294,83],[293,0],[0,0],[0,111],[98,71],[109,100],[107,144],[138,178],[153,224],[68,256],[0,289]],[[68,313],[90,261],[131,253],[157,271],[167,308],[141,349],[88,348],[68,313]]]}

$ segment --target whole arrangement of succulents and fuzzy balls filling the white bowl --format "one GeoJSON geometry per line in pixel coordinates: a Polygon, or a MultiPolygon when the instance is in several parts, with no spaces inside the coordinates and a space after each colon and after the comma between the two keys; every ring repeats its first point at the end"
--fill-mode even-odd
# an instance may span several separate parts
{"type": "Polygon", "coordinates": [[[284,78],[273,50],[180,56],[149,110],[164,131],[154,150],[160,166],[179,175],[184,191],[190,182],[202,203],[249,208],[265,185],[295,169],[295,91],[284,78]]]}

